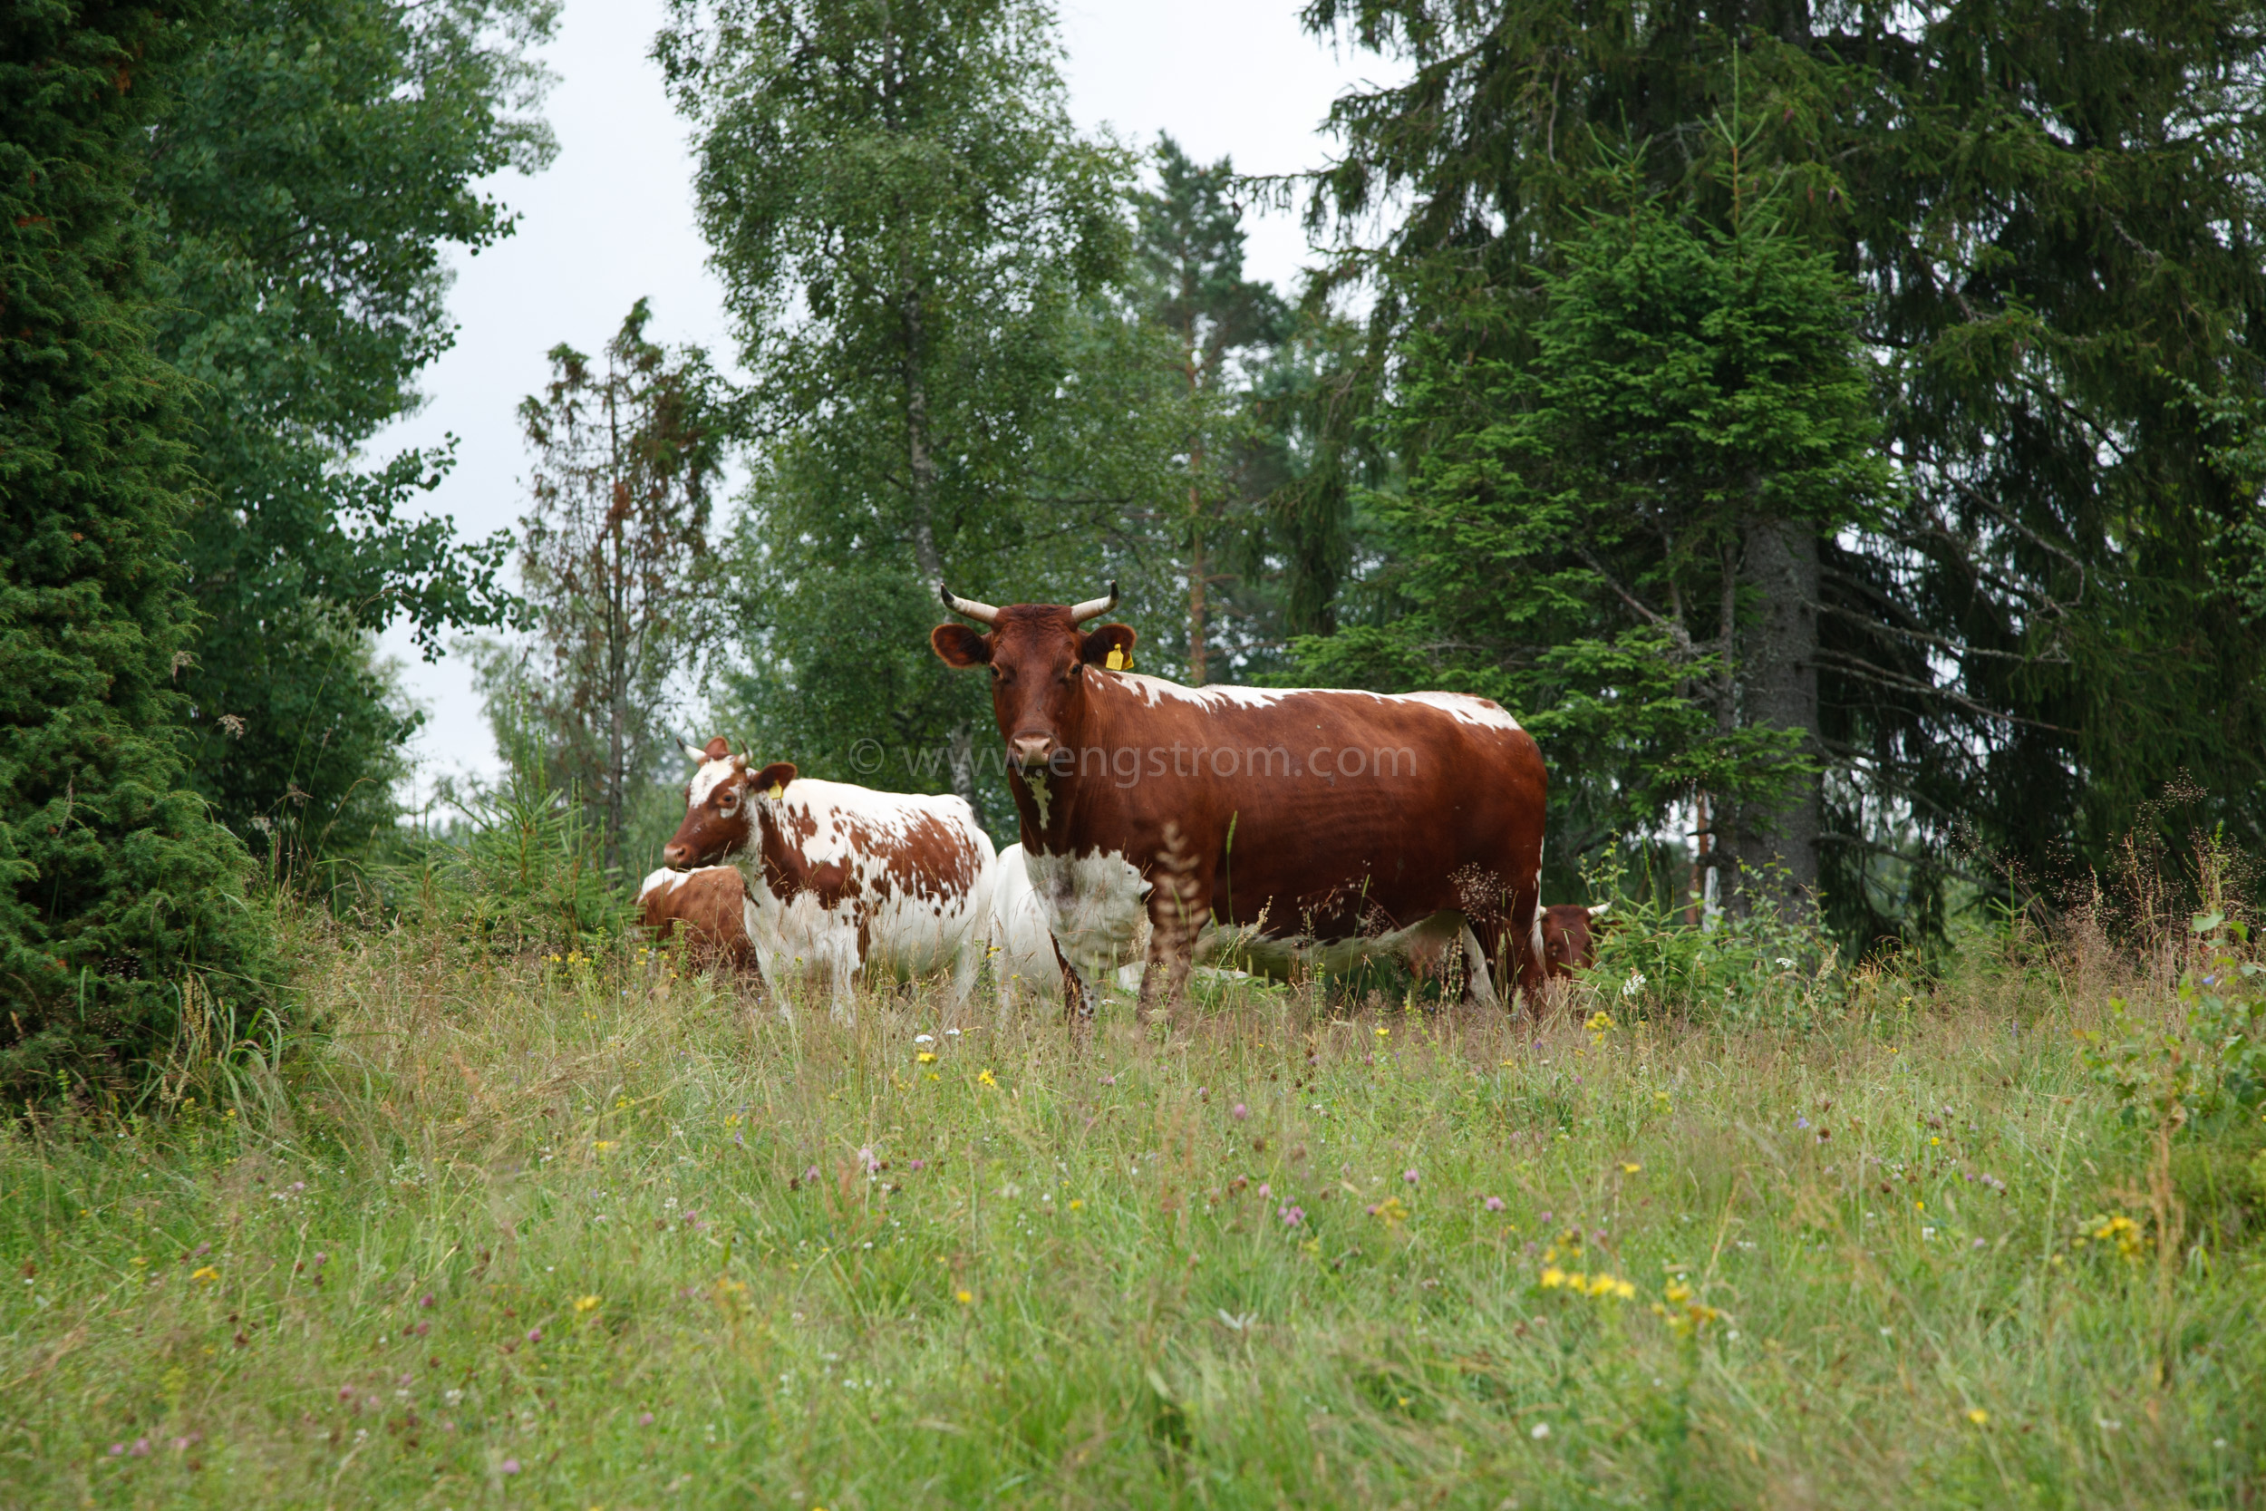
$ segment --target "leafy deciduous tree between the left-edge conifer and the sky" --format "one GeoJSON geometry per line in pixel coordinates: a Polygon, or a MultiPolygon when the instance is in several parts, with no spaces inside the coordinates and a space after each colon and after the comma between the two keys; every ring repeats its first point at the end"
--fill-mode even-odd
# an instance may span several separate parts
{"type": "Polygon", "coordinates": [[[415,517],[453,453],[360,446],[417,408],[453,340],[444,249],[512,215],[480,188],[551,156],[530,118],[555,0],[242,0],[172,70],[140,197],[156,229],[159,353],[195,381],[188,589],[204,618],[195,784],[258,854],[367,836],[415,714],[369,634],[408,616],[428,655],[494,625],[508,537],[415,517]],[[254,818],[267,834],[254,834],[254,818]],[[274,836],[288,829],[288,843],[274,836]]]}

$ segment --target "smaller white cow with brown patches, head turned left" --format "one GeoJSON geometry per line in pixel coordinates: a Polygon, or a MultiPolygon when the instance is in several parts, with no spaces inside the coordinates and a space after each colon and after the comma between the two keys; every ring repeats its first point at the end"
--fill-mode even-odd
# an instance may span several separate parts
{"type": "Polygon", "coordinates": [[[741,870],[755,961],[782,1004],[809,979],[841,1015],[859,972],[949,972],[954,1001],[968,999],[995,856],[965,800],[798,777],[789,761],[750,770],[723,739],[684,754],[698,770],[662,859],[741,870]]]}

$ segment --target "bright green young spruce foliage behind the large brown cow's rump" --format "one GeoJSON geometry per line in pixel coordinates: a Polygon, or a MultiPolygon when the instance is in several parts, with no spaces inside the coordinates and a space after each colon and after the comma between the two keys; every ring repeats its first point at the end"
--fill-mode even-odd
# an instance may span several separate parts
{"type": "Polygon", "coordinates": [[[1516,709],[1557,772],[1568,877],[1693,791],[1815,777],[1813,732],[1752,711],[1738,557],[1758,521],[1826,535],[1890,487],[1849,285],[1777,199],[1718,231],[1622,163],[1588,202],[1532,299],[1482,290],[1407,335],[1409,476],[1366,501],[1394,614],[1298,646],[1323,680],[1516,709]]]}

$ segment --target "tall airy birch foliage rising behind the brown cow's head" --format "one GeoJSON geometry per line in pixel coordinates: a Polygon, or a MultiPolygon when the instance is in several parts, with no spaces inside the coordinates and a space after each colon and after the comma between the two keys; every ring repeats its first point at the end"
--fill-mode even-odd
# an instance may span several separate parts
{"type": "Polygon", "coordinates": [[[988,793],[990,818],[990,716],[927,648],[934,584],[1067,603],[1119,578],[1160,607],[1169,566],[1128,517],[1172,496],[1183,433],[1162,338],[1113,299],[1131,159],[1072,127],[1049,20],[675,0],[655,48],[766,401],[725,720],[813,775],[879,779],[845,766],[866,750],[888,786],[988,793]]]}

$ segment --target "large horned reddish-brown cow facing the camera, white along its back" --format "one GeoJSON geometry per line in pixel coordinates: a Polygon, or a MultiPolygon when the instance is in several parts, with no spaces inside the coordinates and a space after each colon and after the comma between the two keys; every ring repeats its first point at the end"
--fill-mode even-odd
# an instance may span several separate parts
{"type": "Polygon", "coordinates": [[[1131,628],[1081,630],[1115,587],[1076,607],[938,594],[988,625],[929,643],[990,668],[1031,886],[1081,1017],[1144,915],[1144,1015],[1181,999],[1212,929],[1262,970],[1462,942],[1480,1001],[1500,958],[1541,985],[1543,761],[1493,702],[1190,689],[1124,671],[1131,628]]]}

